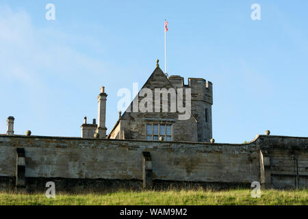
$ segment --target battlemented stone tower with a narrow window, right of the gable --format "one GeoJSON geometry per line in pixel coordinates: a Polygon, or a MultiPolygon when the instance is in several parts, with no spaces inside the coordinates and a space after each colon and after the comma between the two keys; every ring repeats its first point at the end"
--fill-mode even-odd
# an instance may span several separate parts
{"type": "Polygon", "coordinates": [[[171,75],[168,79],[175,88],[191,88],[192,115],[197,120],[198,142],[209,142],[212,138],[213,84],[202,78],[188,78],[188,85],[185,85],[179,75],[171,75]]]}

